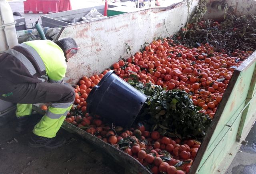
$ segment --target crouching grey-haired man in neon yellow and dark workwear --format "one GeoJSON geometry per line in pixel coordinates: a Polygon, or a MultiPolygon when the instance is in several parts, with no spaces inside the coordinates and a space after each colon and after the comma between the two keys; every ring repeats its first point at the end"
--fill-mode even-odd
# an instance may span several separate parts
{"type": "Polygon", "coordinates": [[[16,131],[26,129],[32,104],[51,103],[34,126],[30,147],[56,148],[65,143],[56,132],[72,107],[75,93],[63,77],[66,62],[78,49],[72,38],[35,40],[16,45],[0,56],[0,99],[18,103],[16,131]]]}

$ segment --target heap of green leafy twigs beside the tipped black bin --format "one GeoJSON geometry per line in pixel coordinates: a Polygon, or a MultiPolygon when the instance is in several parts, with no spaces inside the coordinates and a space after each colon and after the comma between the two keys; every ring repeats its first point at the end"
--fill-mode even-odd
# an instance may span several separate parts
{"type": "Polygon", "coordinates": [[[201,139],[210,126],[208,115],[200,113],[200,107],[195,107],[190,95],[181,90],[164,90],[161,86],[138,81],[128,81],[148,97],[146,105],[138,116],[152,130],[158,130],[162,135],[179,138],[201,139]]]}

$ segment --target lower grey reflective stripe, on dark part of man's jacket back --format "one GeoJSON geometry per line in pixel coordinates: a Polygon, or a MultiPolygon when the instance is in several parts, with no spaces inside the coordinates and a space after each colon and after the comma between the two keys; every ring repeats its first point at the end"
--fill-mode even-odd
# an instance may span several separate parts
{"type": "Polygon", "coordinates": [[[36,73],[35,67],[28,60],[28,58],[25,57],[22,53],[14,50],[14,49],[9,49],[8,51],[6,51],[6,53],[16,57],[21,63],[23,63],[23,65],[28,69],[28,71],[31,75],[34,75],[36,73]]]}

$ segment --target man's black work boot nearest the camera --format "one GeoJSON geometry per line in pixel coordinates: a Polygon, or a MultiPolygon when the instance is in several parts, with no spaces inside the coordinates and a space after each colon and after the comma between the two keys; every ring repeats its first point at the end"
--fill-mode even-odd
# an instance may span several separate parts
{"type": "Polygon", "coordinates": [[[63,137],[46,138],[44,136],[38,136],[32,134],[28,146],[30,147],[44,147],[44,148],[57,148],[62,146],[66,142],[63,137]]]}

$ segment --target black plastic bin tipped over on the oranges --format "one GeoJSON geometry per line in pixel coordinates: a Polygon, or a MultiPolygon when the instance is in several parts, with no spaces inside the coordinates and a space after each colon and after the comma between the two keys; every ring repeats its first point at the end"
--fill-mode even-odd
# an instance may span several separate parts
{"type": "Polygon", "coordinates": [[[130,127],[146,99],[144,94],[111,70],[92,88],[86,100],[87,111],[100,115],[115,125],[130,127]]]}

